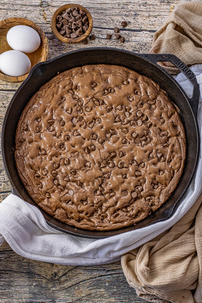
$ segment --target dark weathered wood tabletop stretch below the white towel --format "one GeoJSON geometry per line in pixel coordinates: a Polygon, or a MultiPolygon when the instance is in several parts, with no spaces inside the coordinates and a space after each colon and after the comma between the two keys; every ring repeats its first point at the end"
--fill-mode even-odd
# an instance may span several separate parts
{"type": "Polygon", "coordinates": [[[120,262],[65,266],[25,259],[3,244],[0,254],[0,302],[135,303],[134,288],[120,262]]]}

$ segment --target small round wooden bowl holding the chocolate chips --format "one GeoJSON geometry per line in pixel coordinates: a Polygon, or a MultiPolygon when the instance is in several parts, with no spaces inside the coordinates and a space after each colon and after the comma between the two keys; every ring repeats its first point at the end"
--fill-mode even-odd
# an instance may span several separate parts
{"type": "Polygon", "coordinates": [[[91,16],[90,12],[88,12],[88,9],[84,8],[82,5],[75,4],[75,3],[69,3],[69,4],[62,5],[61,7],[59,7],[57,9],[57,11],[55,11],[55,13],[53,14],[52,19],[51,19],[51,28],[52,28],[54,35],[60,41],[65,42],[65,43],[70,43],[70,44],[78,43],[78,42],[84,41],[90,35],[92,28],[93,28],[93,18],[91,16]],[[69,7],[78,7],[83,12],[85,12],[86,16],[88,17],[88,30],[82,36],[74,38],[74,39],[63,37],[62,35],[59,34],[58,29],[56,27],[56,20],[57,20],[56,17],[69,7]]]}

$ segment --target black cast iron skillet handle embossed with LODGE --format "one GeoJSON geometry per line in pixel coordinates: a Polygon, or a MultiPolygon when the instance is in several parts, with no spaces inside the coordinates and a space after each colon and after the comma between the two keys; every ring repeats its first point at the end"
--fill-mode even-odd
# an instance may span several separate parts
{"type": "Polygon", "coordinates": [[[158,66],[158,68],[161,68],[166,72],[169,76],[170,74],[157,62],[171,62],[173,63],[179,70],[187,77],[187,79],[191,82],[193,85],[193,94],[192,97],[189,98],[187,94],[183,92],[186,95],[190,107],[193,111],[194,117],[197,119],[197,112],[198,112],[198,104],[199,104],[199,98],[200,98],[200,89],[199,89],[199,84],[197,82],[196,76],[194,73],[190,70],[190,68],[187,67],[179,58],[177,58],[173,54],[138,54],[140,57],[143,57],[147,60],[149,60],[151,63],[154,65],[158,66]]]}

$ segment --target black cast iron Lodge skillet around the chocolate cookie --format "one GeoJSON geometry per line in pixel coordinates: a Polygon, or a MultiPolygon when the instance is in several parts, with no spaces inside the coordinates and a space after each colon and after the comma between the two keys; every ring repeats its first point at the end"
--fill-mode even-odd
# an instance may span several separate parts
{"type": "Polygon", "coordinates": [[[176,211],[178,205],[180,205],[181,199],[191,183],[198,163],[200,139],[197,124],[197,108],[199,96],[199,85],[197,84],[195,75],[182,61],[171,54],[134,54],[116,48],[87,48],[68,52],[67,54],[58,56],[50,61],[38,63],[31,69],[27,79],[13,96],[3,122],[2,157],[7,176],[12,186],[12,193],[38,207],[44,215],[48,225],[68,234],[84,238],[105,238],[118,235],[170,218],[176,211]],[[157,64],[157,62],[162,61],[172,62],[187,76],[194,86],[192,98],[188,98],[175,79],[169,75],[164,68],[157,64]],[[39,208],[28,195],[28,192],[19,178],[14,159],[15,132],[18,120],[30,98],[42,85],[55,77],[58,72],[61,73],[68,69],[88,64],[113,64],[125,66],[157,82],[161,88],[167,92],[172,102],[180,109],[180,117],[184,124],[187,140],[187,156],[184,171],[180,182],[171,197],[161,206],[161,208],[143,221],[140,221],[136,225],[112,231],[88,231],[79,229],[62,223],[48,215],[39,208]]]}

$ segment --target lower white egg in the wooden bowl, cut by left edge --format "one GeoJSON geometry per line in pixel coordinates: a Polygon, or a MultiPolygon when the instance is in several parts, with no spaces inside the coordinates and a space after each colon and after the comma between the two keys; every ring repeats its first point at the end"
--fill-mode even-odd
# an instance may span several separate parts
{"type": "Polygon", "coordinates": [[[26,75],[31,68],[27,55],[19,51],[7,51],[0,55],[0,71],[7,76],[19,77],[26,75]]]}

